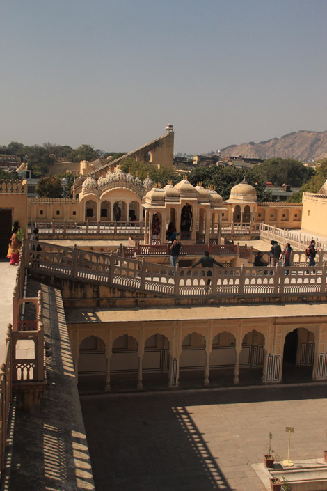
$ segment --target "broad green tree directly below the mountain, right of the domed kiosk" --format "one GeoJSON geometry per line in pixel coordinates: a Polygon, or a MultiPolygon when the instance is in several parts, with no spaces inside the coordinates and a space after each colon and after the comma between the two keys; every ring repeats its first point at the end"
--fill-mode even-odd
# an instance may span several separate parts
{"type": "Polygon", "coordinates": [[[310,167],[303,165],[299,160],[280,157],[266,159],[262,164],[256,164],[255,169],[264,182],[272,182],[274,186],[301,186],[313,173],[310,167]]]}

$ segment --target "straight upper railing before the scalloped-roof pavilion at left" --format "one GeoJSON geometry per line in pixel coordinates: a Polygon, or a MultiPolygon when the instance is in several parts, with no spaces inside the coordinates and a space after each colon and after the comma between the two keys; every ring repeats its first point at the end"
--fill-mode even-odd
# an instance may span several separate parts
{"type": "Polygon", "coordinates": [[[62,221],[62,220],[35,220],[29,221],[27,230],[29,233],[33,228],[38,228],[40,234],[46,235],[128,235],[130,233],[143,233],[141,221],[62,221]]]}

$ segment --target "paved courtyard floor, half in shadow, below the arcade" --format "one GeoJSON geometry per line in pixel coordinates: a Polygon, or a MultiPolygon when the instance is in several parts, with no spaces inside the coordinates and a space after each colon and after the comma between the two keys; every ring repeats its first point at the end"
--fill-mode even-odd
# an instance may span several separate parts
{"type": "Polygon", "coordinates": [[[96,491],[263,491],[251,464],[273,449],[320,458],[327,384],[81,397],[96,491]]]}

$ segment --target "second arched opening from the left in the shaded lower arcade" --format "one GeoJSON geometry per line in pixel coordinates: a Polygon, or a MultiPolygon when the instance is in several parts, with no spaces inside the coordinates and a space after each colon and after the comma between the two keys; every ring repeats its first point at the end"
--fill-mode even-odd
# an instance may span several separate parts
{"type": "Polygon", "coordinates": [[[110,358],[111,390],[136,389],[138,374],[138,342],[124,334],[113,341],[110,358]]]}

